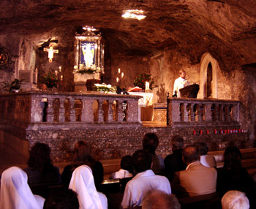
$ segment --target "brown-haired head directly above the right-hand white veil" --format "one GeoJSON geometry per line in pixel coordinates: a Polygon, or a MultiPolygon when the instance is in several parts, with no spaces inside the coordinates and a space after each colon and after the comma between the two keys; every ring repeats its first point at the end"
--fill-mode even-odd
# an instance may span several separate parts
{"type": "Polygon", "coordinates": [[[91,145],[86,141],[76,142],[73,151],[74,162],[88,162],[92,159],[91,156],[91,145]]]}

